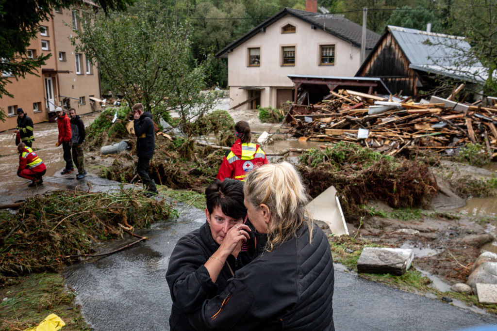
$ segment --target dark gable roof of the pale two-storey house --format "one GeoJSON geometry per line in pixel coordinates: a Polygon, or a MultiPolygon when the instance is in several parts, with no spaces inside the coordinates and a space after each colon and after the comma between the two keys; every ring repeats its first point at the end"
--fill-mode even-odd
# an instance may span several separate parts
{"type": "MultiPolygon", "coordinates": [[[[267,26],[273,24],[286,15],[291,15],[299,18],[304,22],[311,24],[314,28],[328,32],[331,35],[334,35],[342,40],[350,42],[356,47],[361,47],[362,27],[359,24],[356,24],[344,17],[335,14],[320,14],[293,8],[283,8],[281,11],[274,14],[273,16],[250,30],[248,33],[223,48],[221,51],[216,53],[215,56],[217,58],[226,58],[228,52],[233,51],[236,47],[238,47],[251,37],[255,36],[257,33],[264,32],[267,26]]],[[[379,34],[367,30],[366,50],[373,49],[378,40],[380,40],[380,37],[381,36],[379,34]]]]}

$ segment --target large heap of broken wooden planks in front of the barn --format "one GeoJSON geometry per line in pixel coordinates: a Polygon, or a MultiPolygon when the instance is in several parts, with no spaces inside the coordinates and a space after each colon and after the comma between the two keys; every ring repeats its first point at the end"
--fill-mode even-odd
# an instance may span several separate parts
{"type": "Polygon", "coordinates": [[[414,103],[411,97],[340,90],[300,114],[290,109],[286,121],[301,140],[347,141],[389,155],[414,146],[451,155],[473,142],[497,157],[496,106],[438,97],[414,103]]]}

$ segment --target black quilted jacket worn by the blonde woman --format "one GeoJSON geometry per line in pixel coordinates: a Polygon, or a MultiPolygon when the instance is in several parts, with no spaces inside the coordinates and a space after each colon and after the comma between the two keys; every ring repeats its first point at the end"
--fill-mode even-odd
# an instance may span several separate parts
{"type": "Polygon", "coordinates": [[[296,238],[235,272],[227,288],[191,316],[197,330],[334,330],[333,261],[323,231],[296,238]]]}

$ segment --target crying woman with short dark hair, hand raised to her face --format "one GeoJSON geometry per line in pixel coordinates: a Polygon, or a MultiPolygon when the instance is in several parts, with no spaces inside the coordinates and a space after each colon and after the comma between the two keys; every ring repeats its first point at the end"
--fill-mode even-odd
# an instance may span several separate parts
{"type": "Polygon", "coordinates": [[[235,270],[256,254],[253,232],[244,222],[243,183],[216,180],[205,190],[205,197],[207,221],[178,240],[169,260],[170,330],[191,330],[185,314],[221,293],[235,270]]]}

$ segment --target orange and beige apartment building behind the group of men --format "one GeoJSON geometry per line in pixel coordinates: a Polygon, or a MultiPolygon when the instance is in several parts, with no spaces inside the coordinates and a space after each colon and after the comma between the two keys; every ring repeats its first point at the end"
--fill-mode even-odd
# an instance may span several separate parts
{"type": "MultiPolygon", "coordinates": [[[[40,23],[44,29],[31,41],[28,56],[36,58],[47,53],[52,56],[38,69],[39,77],[26,75],[19,80],[11,77],[6,88],[13,98],[3,96],[0,99],[0,107],[7,117],[5,122],[0,121],[0,131],[17,126],[17,108],[22,108],[34,124],[55,116],[54,110],[58,106],[73,107],[78,114],[95,110],[90,97],[100,97],[98,70],[84,54],[75,52],[70,39],[76,35],[75,29],[81,29],[78,15],[83,7],[91,5],[95,4],[83,0],[81,6],[53,9],[53,18],[40,23]]],[[[8,76],[9,73],[1,74],[8,76]]]]}

